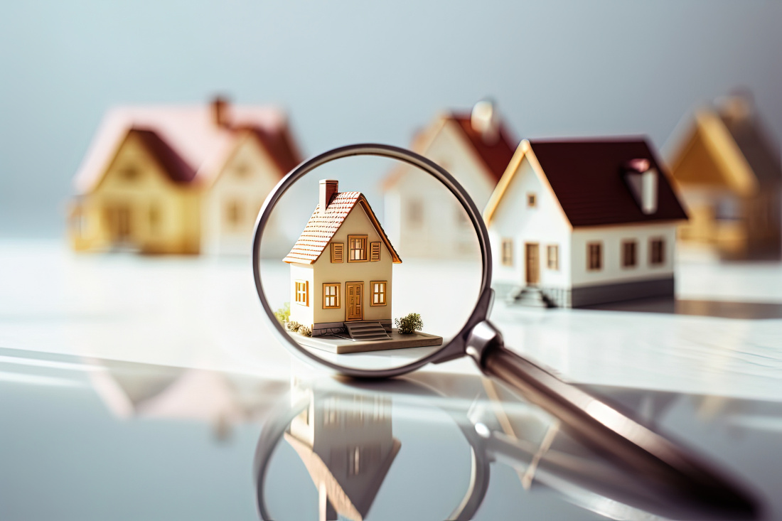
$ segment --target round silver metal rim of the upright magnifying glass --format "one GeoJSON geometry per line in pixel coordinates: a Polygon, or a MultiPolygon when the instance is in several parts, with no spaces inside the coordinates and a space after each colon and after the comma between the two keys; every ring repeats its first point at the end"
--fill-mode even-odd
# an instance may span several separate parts
{"type": "Polygon", "coordinates": [[[443,345],[443,347],[440,347],[438,350],[432,352],[432,354],[429,354],[426,357],[396,368],[351,368],[319,358],[306,347],[303,347],[299,343],[296,343],[294,340],[292,340],[289,334],[285,332],[285,329],[282,328],[282,324],[280,324],[277,320],[270,320],[270,322],[273,322],[272,329],[274,329],[274,333],[278,336],[282,343],[291,346],[293,348],[292,352],[296,354],[296,356],[303,358],[303,360],[314,361],[318,365],[322,365],[331,369],[332,372],[359,378],[388,378],[389,376],[402,375],[404,373],[414,371],[415,369],[427,365],[430,362],[439,363],[463,356],[467,348],[467,336],[470,332],[472,332],[472,329],[476,324],[486,320],[486,316],[489,314],[491,302],[493,299],[493,291],[490,288],[492,266],[489,232],[486,231],[486,224],[483,222],[483,217],[478,208],[475,207],[475,203],[473,203],[472,198],[468,196],[467,192],[465,192],[465,189],[459,185],[459,183],[451,174],[445,171],[442,167],[439,167],[439,165],[434,163],[432,160],[428,160],[420,154],[411,152],[407,149],[402,149],[400,147],[381,145],[378,143],[360,143],[356,145],[348,145],[331,149],[328,150],[328,152],[321,153],[320,155],[314,156],[309,160],[304,161],[278,182],[278,184],[274,187],[264,202],[264,206],[260,209],[260,213],[258,214],[258,218],[255,223],[255,232],[253,234],[253,277],[255,278],[256,290],[258,292],[258,296],[260,297],[260,304],[264,307],[264,311],[266,311],[268,317],[274,316],[274,311],[271,309],[271,306],[268,303],[266,293],[264,292],[264,285],[260,278],[261,240],[264,235],[264,229],[271,219],[271,214],[274,210],[274,207],[277,206],[277,203],[279,203],[282,196],[285,195],[285,192],[287,192],[296,181],[298,181],[300,178],[303,178],[304,175],[314,171],[317,167],[321,167],[325,163],[330,163],[331,161],[350,156],[387,157],[389,159],[400,160],[414,167],[418,167],[443,183],[443,185],[445,185],[445,187],[450,190],[454,197],[456,197],[459,203],[461,203],[461,206],[464,207],[465,211],[467,212],[470,222],[472,222],[472,226],[475,228],[475,232],[478,235],[478,242],[481,250],[481,286],[478,300],[475,303],[475,309],[472,311],[472,314],[468,318],[467,322],[465,322],[465,325],[462,326],[461,330],[457,333],[456,336],[454,336],[452,340],[450,340],[449,343],[443,345]]]}

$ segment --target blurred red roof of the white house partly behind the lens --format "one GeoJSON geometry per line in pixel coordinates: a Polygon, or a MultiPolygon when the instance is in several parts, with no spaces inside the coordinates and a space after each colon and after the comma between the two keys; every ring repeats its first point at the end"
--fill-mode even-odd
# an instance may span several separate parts
{"type": "MultiPolygon", "coordinates": [[[[465,138],[475,156],[486,167],[486,173],[492,185],[496,185],[497,181],[500,181],[505,168],[508,167],[508,163],[510,163],[518,145],[518,139],[514,137],[508,126],[503,120],[500,120],[497,139],[486,141],[479,131],[472,128],[471,114],[469,112],[448,113],[438,117],[425,130],[417,132],[411,142],[411,149],[426,156],[432,140],[448,123],[454,124],[454,127],[460,131],[460,134],[465,138]]],[[[403,177],[405,171],[407,171],[407,165],[400,164],[398,167],[395,167],[383,181],[382,189],[387,190],[396,185],[396,182],[403,177]]]]}

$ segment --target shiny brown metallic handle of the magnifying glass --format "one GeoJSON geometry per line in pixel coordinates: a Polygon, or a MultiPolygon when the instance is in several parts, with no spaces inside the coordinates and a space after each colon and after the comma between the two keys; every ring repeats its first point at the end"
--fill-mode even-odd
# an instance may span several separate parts
{"type": "Polygon", "coordinates": [[[716,508],[724,516],[754,519],[748,494],[709,469],[678,444],[642,425],[614,404],[587,393],[512,353],[490,322],[472,330],[468,354],[482,372],[507,383],[527,401],[554,415],[578,440],[687,498],[716,508]]]}

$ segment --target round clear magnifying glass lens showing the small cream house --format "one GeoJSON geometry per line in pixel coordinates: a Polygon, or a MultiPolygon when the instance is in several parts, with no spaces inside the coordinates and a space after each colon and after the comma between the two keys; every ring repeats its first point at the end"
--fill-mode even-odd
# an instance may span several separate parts
{"type": "Polygon", "coordinates": [[[418,167],[333,160],[298,178],[269,216],[262,297],[287,340],[314,358],[363,371],[410,365],[446,346],[475,308],[478,231],[418,167]]]}

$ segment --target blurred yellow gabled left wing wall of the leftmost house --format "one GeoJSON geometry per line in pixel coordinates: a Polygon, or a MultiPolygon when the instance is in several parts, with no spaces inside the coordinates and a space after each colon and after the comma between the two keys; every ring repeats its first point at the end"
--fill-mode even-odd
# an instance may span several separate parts
{"type": "Polygon", "coordinates": [[[198,253],[200,192],[170,181],[132,133],[106,174],[71,213],[77,250],[130,247],[146,253],[198,253]]]}

